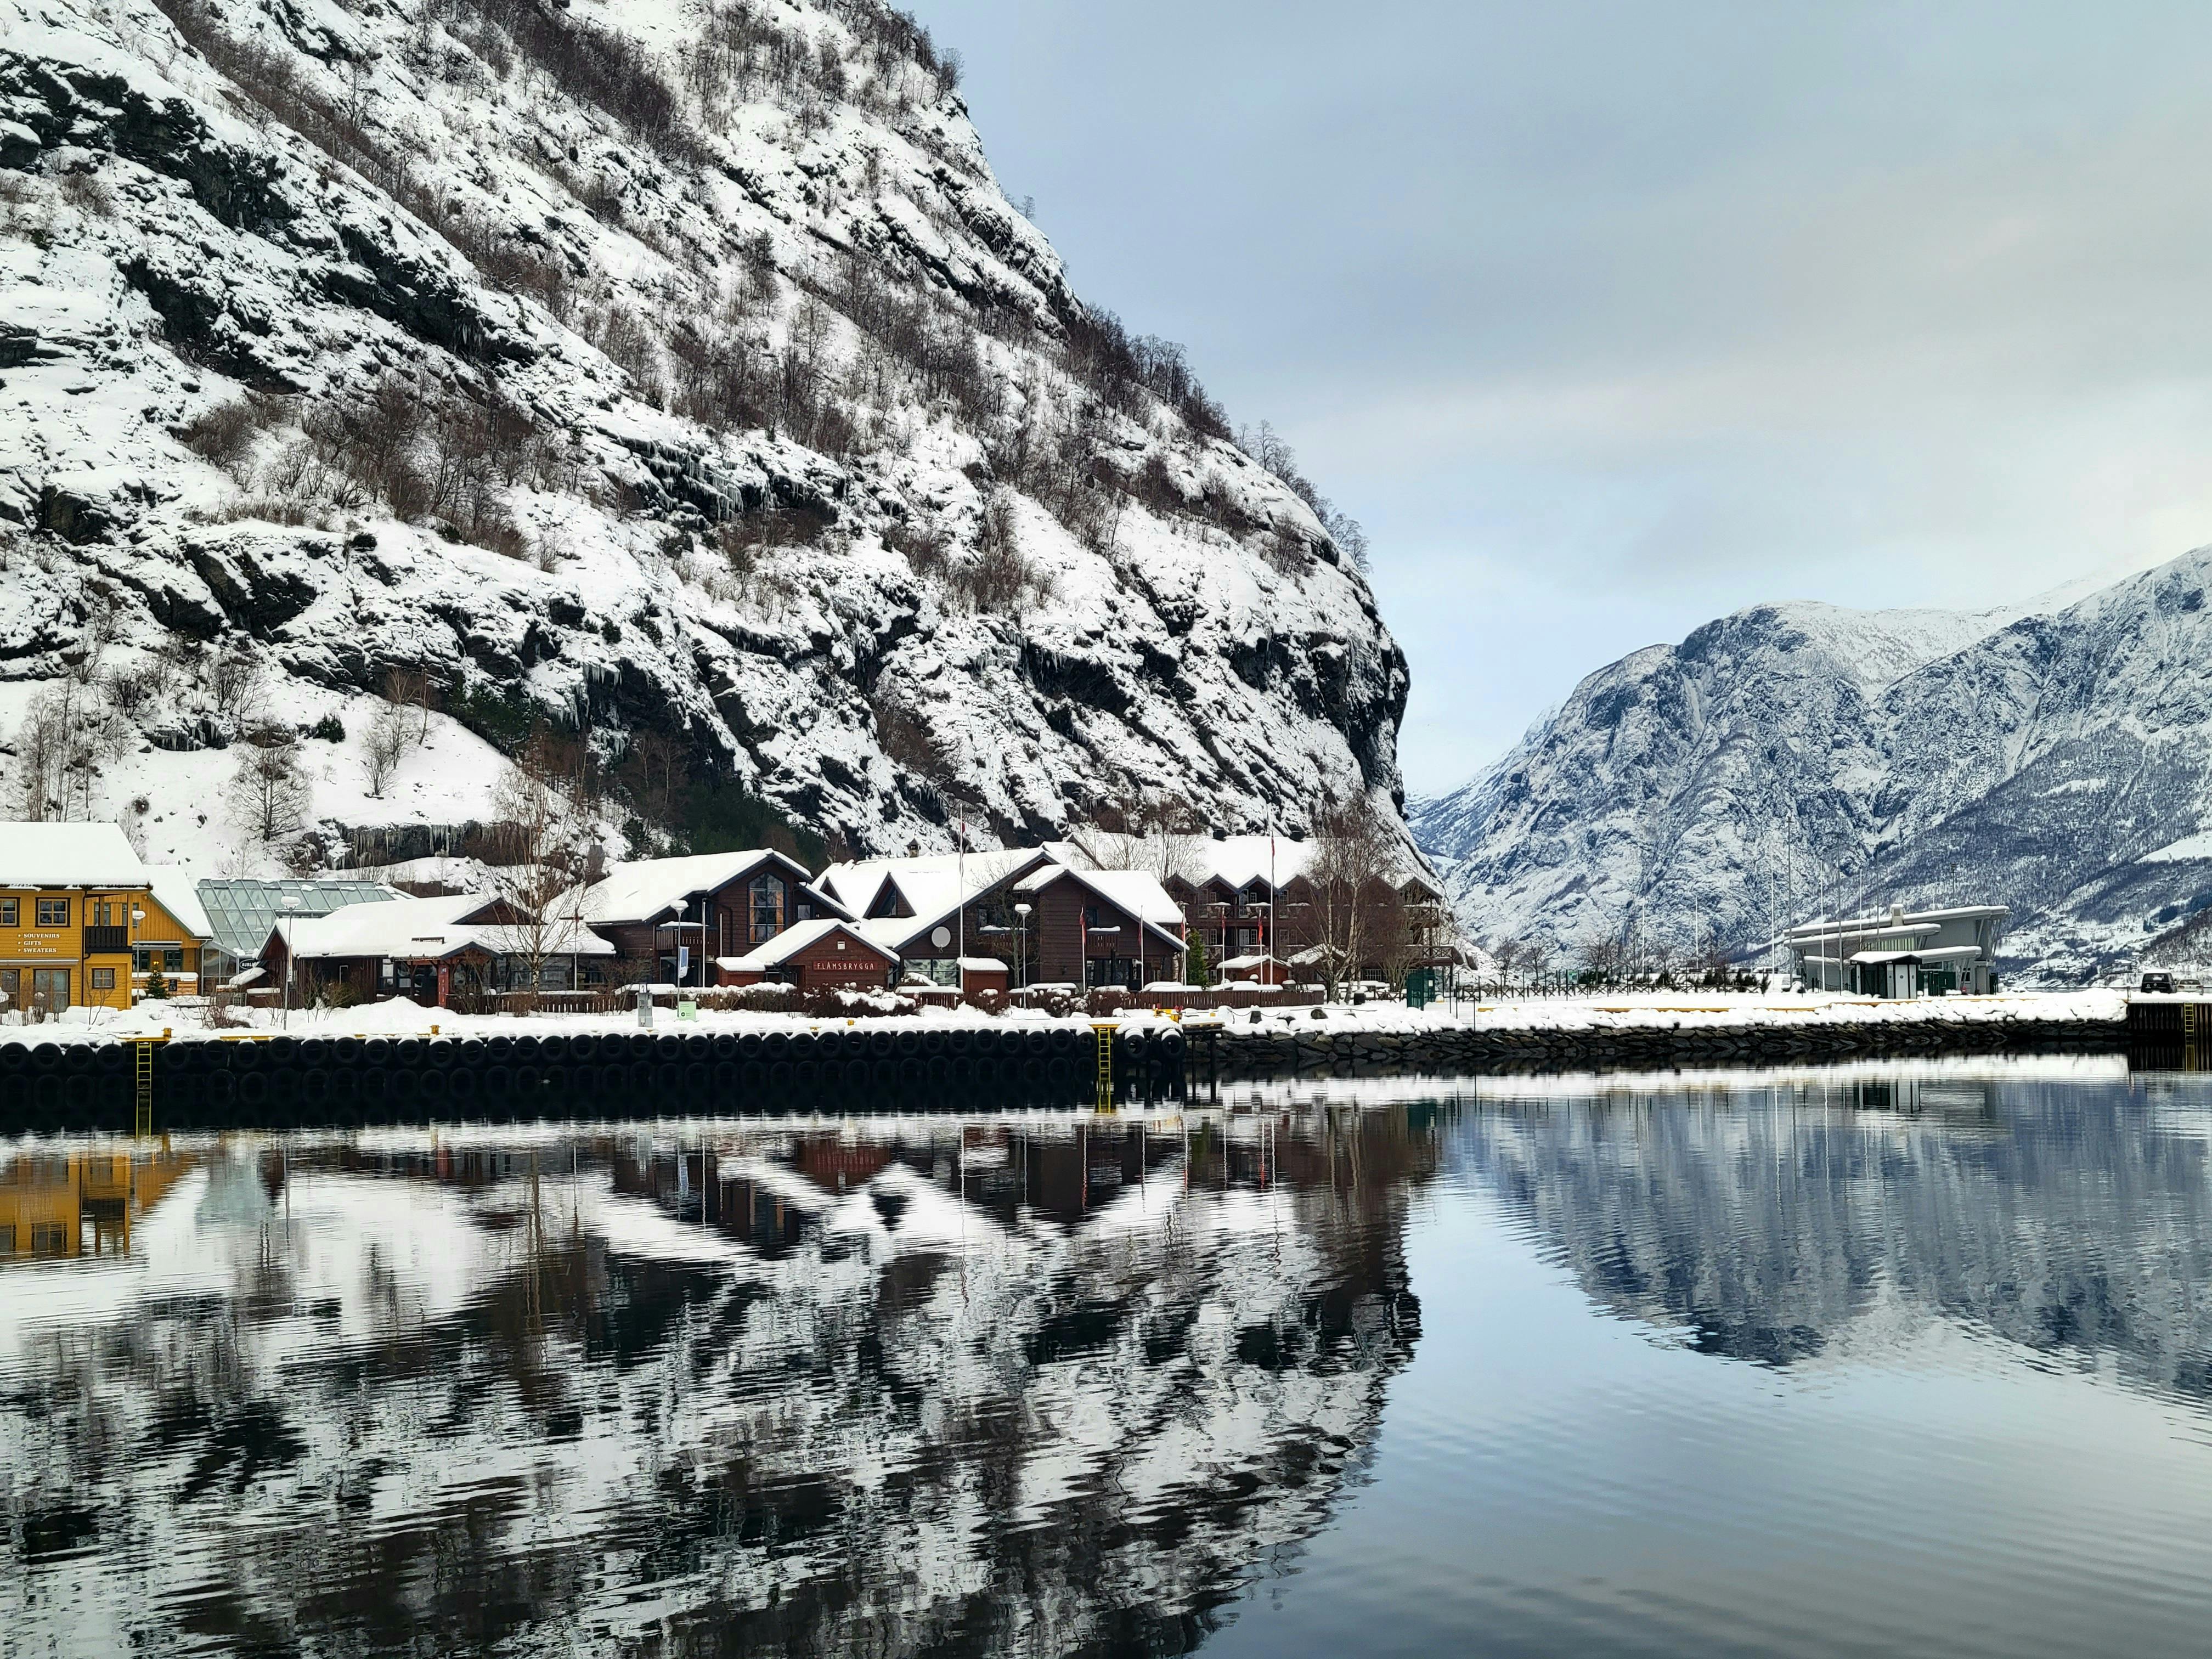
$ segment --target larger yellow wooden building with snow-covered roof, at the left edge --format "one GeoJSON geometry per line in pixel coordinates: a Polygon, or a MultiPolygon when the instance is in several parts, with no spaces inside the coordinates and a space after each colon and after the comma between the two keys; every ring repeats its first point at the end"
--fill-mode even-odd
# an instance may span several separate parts
{"type": "Polygon", "coordinates": [[[0,823],[0,1006],[128,1009],[150,907],[150,874],[113,823],[0,823]]]}

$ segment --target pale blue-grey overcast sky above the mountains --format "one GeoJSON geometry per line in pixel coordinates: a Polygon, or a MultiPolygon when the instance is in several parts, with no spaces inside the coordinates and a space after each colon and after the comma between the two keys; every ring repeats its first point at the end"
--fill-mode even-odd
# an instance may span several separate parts
{"type": "Polygon", "coordinates": [[[1416,794],[1745,604],[2212,542],[2212,7],[918,11],[1077,292],[1365,522],[1416,794]]]}

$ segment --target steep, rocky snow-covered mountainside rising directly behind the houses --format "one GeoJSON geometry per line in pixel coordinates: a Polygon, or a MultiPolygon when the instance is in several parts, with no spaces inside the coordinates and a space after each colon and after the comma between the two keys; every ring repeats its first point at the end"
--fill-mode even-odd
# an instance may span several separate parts
{"type": "Polygon", "coordinates": [[[11,814],[301,856],[239,737],[336,843],[540,723],[856,849],[1396,794],[1349,526],[956,86],[876,0],[0,0],[11,814]]]}

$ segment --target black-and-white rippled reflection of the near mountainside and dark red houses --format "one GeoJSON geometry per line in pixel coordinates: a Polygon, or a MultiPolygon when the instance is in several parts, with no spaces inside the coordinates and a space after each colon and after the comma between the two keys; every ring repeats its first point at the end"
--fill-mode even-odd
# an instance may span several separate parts
{"type": "Polygon", "coordinates": [[[38,1650],[1157,1652],[1369,1449],[1438,1137],[1396,1110],[161,1157],[104,1272],[0,1265],[0,1621],[38,1650]]]}

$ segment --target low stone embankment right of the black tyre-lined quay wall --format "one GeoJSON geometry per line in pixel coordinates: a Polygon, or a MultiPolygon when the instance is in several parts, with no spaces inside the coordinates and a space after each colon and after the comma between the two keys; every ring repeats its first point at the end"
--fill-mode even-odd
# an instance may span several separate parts
{"type": "Polygon", "coordinates": [[[1984,1053],[2121,1053],[2119,1018],[1801,1020],[1329,1029],[1274,1022],[1192,1033],[1192,1082],[1376,1073],[1615,1071],[1984,1053]]]}

